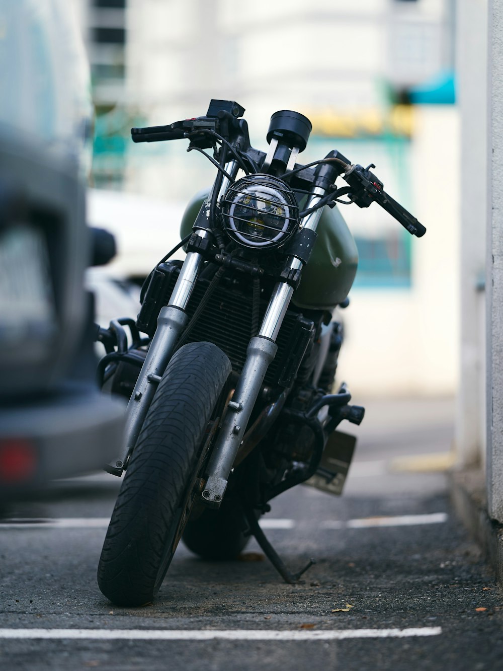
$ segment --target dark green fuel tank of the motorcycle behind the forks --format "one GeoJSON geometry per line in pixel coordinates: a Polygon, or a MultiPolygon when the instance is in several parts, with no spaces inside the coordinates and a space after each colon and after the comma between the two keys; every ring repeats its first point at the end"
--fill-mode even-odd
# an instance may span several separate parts
{"type": "MultiPolygon", "coordinates": [[[[199,191],[188,203],[180,236],[190,234],[192,225],[208,197],[208,191],[199,191]]],[[[309,263],[302,268],[302,280],[292,303],[310,310],[333,310],[342,303],[351,289],[358,266],[355,240],[337,206],[323,208],[318,227],[318,238],[309,263]]]]}

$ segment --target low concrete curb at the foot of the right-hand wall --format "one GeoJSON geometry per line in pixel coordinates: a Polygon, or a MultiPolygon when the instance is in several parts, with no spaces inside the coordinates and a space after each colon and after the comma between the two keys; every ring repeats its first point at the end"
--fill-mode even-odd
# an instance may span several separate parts
{"type": "Polygon", "coordinates": [[[476,469],[451,471],[448,480],[457,516],[486,554],[503,589],[503,525],[488,515],[485,474],[476,469]]]}

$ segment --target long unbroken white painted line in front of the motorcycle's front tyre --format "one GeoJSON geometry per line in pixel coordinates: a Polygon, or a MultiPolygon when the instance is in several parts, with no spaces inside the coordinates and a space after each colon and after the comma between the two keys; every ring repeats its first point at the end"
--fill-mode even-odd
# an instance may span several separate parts
{"type": "Polygon", "coordinates": [[[340,641],[351,638],[409,638],[438,636],[441,627],[410,629],[0,629],[0,639],[95,639],[144,641],[340,641]]]}

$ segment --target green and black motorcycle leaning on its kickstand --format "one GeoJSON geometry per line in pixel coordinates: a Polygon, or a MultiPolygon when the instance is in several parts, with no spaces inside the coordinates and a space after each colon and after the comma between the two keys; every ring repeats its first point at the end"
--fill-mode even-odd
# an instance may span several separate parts
{"type": "Polygon", "coordinates": [[[355,437],[336,429],[364,417],[345,384],[332,393],[342,342],[333,314],[349,303],[357,269],[335,205],[376,202],[410,234],[426,231],[374,164],[335,150],[298,163],[311,132],[304,115],[274,113],[262,152],[244,111],[211,100],[205,116],[131,129],[133,142],[188,140],[217,175],[144,282],[136,321],[97,331],[103,389],[129,398],[123,452],[105,466],[125,474],[98,568],[117,605],[152,601],[180,539],[202,558],[229,560],[254,535],[287,582],[311,566],[290,571],[259,521],[301,482],[340,494],[355,437]],[[170,261],[182,246],[185,260],[170,261]]]}

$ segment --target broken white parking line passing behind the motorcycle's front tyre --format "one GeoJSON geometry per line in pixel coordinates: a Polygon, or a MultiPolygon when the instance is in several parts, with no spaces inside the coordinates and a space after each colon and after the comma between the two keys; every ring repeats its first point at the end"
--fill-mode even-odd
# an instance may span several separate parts
{"type": "MultiPolygon", "coordinates": [[[[319,522],[320,529],[369,529],[371,527],[404,527],[418,524],[440,524],[448,519],[447,513],[427,515],[399,515],[396,517],[362,517],[361,519],[327,519],[319,522]]],[[[0,529],[103,529],[109,517],[45,517],[41,519],[0,520],[0,529]]],[[[260,520],[262,529],[294,529],[294,519],[266,518],[260,520]]]]}

